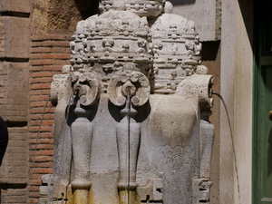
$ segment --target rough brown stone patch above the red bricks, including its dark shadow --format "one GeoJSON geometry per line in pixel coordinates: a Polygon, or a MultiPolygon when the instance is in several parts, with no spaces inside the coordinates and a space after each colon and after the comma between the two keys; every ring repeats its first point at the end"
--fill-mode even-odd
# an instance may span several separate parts
{"type": "Polygon", "coordinates": [[[72,34],[78,21],[98,14],[98,0],[33,0],[32,31],[34,34],[72,34]]]}

